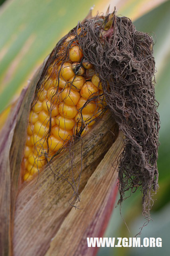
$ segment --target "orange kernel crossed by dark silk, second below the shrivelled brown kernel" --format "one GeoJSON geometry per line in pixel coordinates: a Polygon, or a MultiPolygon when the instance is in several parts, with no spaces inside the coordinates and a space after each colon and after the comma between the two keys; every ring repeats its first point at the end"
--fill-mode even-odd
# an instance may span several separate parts
{"type": "Polygon", "coordinates": [[[90,101],[87,103],[87,99],[84,99],[83,97],[81,97],[79,99],[79,102],[77,103],[77,109],[81,110],[82,113],[85,113],[85,114],[93,114],[96,108],[97,108],[97,104],[95,103],[95,101],[90,101]]]}

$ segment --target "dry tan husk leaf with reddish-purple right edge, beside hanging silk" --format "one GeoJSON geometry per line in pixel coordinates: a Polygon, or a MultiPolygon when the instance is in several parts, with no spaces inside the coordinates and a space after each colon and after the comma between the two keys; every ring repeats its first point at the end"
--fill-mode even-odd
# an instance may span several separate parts
{"type": "Polygon", "coordinates": [[[96,247],[87,246],[87,237],[102,237],[108,224],[116,198],[117,159],[123,149],[123,137],[120,132],[116,142],[88,179],[81,193],[82,210],[71,209],[45,256],[96,254],[96,247]]]}

